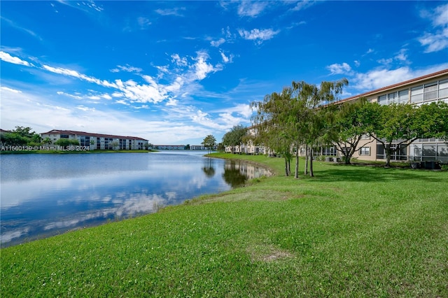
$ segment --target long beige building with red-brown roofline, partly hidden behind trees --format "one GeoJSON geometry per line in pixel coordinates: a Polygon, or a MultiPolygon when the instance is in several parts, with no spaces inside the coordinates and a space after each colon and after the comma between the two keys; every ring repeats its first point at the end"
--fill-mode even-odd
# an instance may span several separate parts
{"type": "MultiPolygon", "coordinates": [[[[365,97],[367,100],[379,104],[420,105],[433,101],[444,101],[448,103],[448,69],[358,94],[339,102],[353,101],[360,97],[365,97]]],[[[248,134],[256,134],[256,127],[249,127],[248,134]]],[[[231,148],[226,147],[225,151],[231,152],[231,148]]],[[[268,149],[262,146],[254,146],[250,141],[235,147],[235,153],[240,152],[246,154],[267,154],[268,149]]],[[[304,148],[300,148],[299,153],[304,156],[304,148]]],[[[315,148],[314,155],[340,156],[334,146],[315,148]]],[[[377,143],[371,136],[364,136],[358,144],[358,150],[353,157],[363,160],[383,160],[386,159],[386,152],[381,143],[377,143]]],[[[436,138],[418,139],[409,146],[402,146],[402,150],[398,150],[391,157],[391,160],[433,160],[446,163],[448,162],[448,146],[444,140],[436,138]]]]}

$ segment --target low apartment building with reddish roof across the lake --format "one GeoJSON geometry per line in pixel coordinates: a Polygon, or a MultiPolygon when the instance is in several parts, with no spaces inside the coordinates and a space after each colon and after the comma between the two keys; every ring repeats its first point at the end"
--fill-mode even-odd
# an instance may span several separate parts
{"type": "Polygon", "coordinates": [[[50,132],[43,132],[41,137],[42,139],[49,138],[52,144],[59,139],[77,140],[80,146],[90,148],[90,150],[144,150],[148,148],[148,140],[137,136],[115,136],[52,129],[50,132]]]}

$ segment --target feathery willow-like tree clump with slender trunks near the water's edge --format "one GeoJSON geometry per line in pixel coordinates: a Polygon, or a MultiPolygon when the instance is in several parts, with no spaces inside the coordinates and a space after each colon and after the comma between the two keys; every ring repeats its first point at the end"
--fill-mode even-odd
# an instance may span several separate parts
{"type": "Polygon", "coordinates": [[[310,148],[309,175],[314,176],[312,155],[314,146],[325,141],[328,122],[332,121],[332,110],[328,104],[335,101],[348,81],[322,82],[320,87],[302,82],[293,82],[281,93],[273,92],[261,102],[253,102],[257,109],[253,118],[258,127],[260,141],[285,157],[286,175],[288,162],[295,149],[295,178],[298,178],[299,150],[302,144],[310,148]]]}

